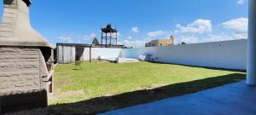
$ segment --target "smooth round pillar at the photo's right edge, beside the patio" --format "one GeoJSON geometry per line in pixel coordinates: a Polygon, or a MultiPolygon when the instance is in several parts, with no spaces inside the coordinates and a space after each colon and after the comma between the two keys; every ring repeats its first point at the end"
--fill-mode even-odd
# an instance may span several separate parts
{"type": "Polygon", "coordinates": [[[256,85],[256,0],[249,0],[247,84],[256,85]]]}

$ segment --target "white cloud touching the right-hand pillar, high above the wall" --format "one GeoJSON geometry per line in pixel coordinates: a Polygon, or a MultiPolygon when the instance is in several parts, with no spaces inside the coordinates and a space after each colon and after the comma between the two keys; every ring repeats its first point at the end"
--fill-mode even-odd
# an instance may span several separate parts
{"type": "Polygon", "coordinates": [[[247,18],[238,18],[234,20],[228,20],[221,24],[226,28],[229,28],[235,32],[247,32],[248,30],[248,19],[247,18]]]}

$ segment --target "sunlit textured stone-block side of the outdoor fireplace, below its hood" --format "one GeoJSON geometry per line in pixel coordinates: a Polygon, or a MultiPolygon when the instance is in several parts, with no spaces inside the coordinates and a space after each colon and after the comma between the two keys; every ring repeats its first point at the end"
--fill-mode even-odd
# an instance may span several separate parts
{"type": "Polygon", "coordinates": [[[41,89],[39,49],[0,47],[0,95],[41,89]]]}

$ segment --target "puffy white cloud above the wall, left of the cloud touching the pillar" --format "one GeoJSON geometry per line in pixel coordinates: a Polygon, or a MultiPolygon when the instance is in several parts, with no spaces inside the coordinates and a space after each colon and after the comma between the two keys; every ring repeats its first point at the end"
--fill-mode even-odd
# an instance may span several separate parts
{"type": "Polygon", "coordinates": [[[175,32],[189,32],[194,34],[205,34],[212,32],[212,21],[198,19],[187,26],[177,24],[177,30],[175,32]]]}

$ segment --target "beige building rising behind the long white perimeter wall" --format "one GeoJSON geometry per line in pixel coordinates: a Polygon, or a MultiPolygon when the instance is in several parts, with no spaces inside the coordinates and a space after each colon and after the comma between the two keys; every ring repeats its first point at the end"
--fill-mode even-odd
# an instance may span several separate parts
{"type": "Polygon", "coordinates": [[[174,43],[174,36],[172,35],[170,39],[156,39],[145,44],[145,47],[157,47],[157,46],[170,46],[174,43]]]}

